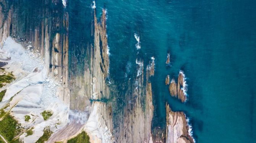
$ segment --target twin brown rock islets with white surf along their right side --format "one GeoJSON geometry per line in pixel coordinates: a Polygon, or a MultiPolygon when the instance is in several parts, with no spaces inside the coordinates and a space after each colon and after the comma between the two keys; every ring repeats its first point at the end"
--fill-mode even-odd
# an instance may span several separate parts
{"type": "MultiPolygon", "coordinates": [[[[165,83],[166,83],[166,80],[167,78],[165,79],[165,83]]],[[[170,92],[170,95],[172,95],[173,97],[178,97],[178,99],[180,99],[181,102],[185,102],[187,99],[186,91],[187,89],[186,89],[185,75],[183,71],[180,71],[178,75],[178,84],[175,82],[175,79],[173,78],[169,85],[169,92],[170,92]]]]}

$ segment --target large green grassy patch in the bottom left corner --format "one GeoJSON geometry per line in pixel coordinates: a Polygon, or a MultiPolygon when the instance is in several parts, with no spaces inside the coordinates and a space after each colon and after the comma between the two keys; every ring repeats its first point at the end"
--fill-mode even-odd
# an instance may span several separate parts
{"type": "Polygon", "coordinates": [[[0,134],[10,143],[18,143],[19,139],[15,138],[21,132],[21,125],[9,114],[0,121],[0,134]]]}

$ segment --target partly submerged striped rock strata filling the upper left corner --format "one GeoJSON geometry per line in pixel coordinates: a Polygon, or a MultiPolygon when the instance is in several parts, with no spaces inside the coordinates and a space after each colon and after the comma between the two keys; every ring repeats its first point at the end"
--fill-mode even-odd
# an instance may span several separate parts
{"type": "Polygon", "coordinates": [[[68,105],[68,13],[63,11],[62,0],[42,1],[53,8],[32,3],[0,1],[0,45],[11,36],[40,53],[47,73],[62,84],[58,96],[68,105]]]}

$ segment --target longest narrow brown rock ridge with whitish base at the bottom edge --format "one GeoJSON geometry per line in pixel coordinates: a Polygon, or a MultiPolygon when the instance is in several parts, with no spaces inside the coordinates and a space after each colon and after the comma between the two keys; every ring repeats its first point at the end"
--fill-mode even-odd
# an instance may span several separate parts
{"type": "MultiPolygon", "coordinates": [[[[109,86],[106,84],[109,71],[109,55],[107,54],[106,11],[102,10],[100,22],[97,22],[94,9],[94,46],[91,46],[91,105],[90,116],[84,129],[90,136],[91,143],[113,142],[111,106],[102,99],[109,99],[109,86]],[[97,101],[98,100],[98,101],[97,101]]],[[[85,75],[85,77],[88,77],[85,75]]]]}

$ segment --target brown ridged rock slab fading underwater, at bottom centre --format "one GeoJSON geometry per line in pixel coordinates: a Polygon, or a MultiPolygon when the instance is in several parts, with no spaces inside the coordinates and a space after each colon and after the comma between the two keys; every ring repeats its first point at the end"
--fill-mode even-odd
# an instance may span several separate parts
{"type": "Polygon", "coordinates": [[[144,62],[136,60],[137,74],[134,83],[129,83],[125,96],[128,97],[123,118],[117,129],[118,143],[152,143],[151,123],[154,112],[152,103],[152,87],[150,77],[154,76],[154,58],[146,66],[144,77],[144,62]],[[144,80],[146,79],[146,84],[144,80]]]}

